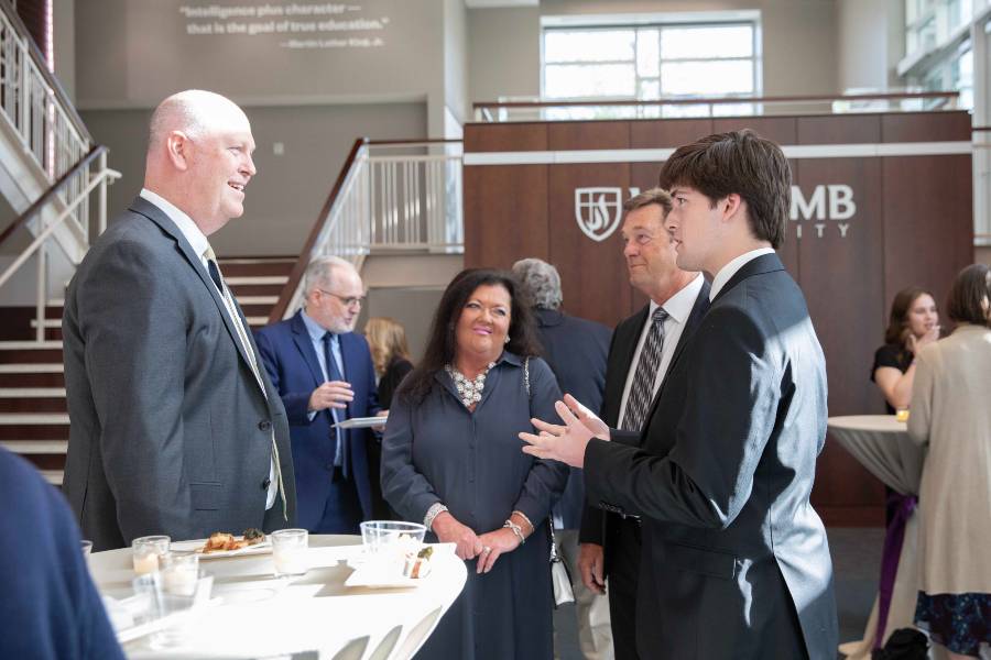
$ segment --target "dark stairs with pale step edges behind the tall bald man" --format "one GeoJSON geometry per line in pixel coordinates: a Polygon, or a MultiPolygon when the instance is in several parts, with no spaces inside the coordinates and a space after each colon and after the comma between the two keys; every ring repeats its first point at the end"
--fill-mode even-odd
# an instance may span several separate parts
{"type": "MultiPolygon", "coordinates": [[[[224,279],[252,328],[269,321],[295,257],[220,260],[224,279]]],[[[23,455],[45,479],[62,484],[68,444],[68,414],[62,365],[62,305],[45,308],[43,342],[33,341],[33,315],[24,317],[24,339],[0,341],[0,446],[23,455]]],[[[10,315],[7,315],[10,318],[10,315]]],[[[10,321],[7,321],[10,322],[10,321]]]]}

